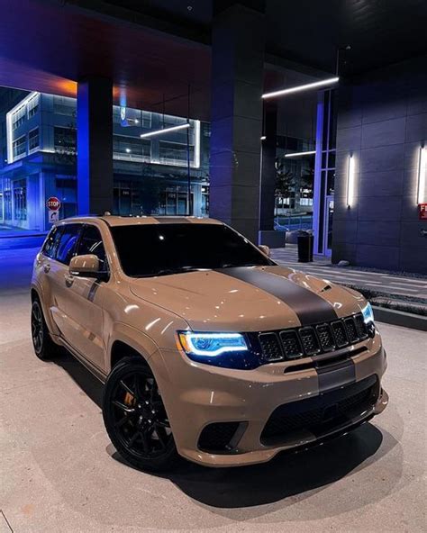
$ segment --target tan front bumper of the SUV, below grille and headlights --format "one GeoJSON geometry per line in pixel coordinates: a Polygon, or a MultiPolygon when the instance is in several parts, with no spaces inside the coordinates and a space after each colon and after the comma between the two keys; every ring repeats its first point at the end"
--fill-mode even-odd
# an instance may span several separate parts
{"type": "MultiPolygon", "coordinates": [[[[384,411],[388,397],[380,383],[386,370],[386,353],[378,334],[374,339],[338,350],[327,359],[323,357],[321,371],[319,364],[315,357],[307,357],[255,370],[233,370],[195,363],[178,350],[161,350],[150,358],[178,453],[211,466],[266,462],[282,450],[308,447],[384,411]],[[344,418],[332,417],[320,431],[307,429],[302,423],[283,435],[263,438],[266,424],[277,408],[286,409],[291,404],[298,408],[304,400],[313,402],[316,397],[327,399],[331,391],[344,391],[355,385],[357,388],[368,378],[373,383],[372,376],[376,382],[372,385],[375,398],[368,406],[365,403],[359,411],[350,410],[350,416],[344,418]],[[218,422],[237,422],[229,446],[221,451],[201,446],[204,428],[218,422]]],[[[330,408],[336,409],[336,404],[326,405],[324,412],[330,408]]]]}

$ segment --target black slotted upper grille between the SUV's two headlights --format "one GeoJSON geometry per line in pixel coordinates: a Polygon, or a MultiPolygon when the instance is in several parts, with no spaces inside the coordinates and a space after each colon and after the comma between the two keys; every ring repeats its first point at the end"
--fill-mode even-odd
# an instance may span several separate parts
{"type": "Polygon", "coordinates": [[[270,363],[331,352],[367,337],[367,326],[359,313],[315,327],[262,332],[259,345],[264,361],[270,363]]]}

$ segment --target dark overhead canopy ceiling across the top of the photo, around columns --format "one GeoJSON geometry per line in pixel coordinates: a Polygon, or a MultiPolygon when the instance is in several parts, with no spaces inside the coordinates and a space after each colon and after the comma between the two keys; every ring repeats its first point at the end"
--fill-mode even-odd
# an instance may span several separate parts
{"type": "MultiPolygon", "coordinates": [[[[348,76],[427,51],[425,0],[240,3],[266,12],[266,90],[333,73],[338,47],[348,76]]],[[[189,86],[190,116],[208,120],[213,11],[230,4],[0,0],[0,85],[76,95],[78,79],[110,77],[116,104],[181,116],[189,86]]]]}

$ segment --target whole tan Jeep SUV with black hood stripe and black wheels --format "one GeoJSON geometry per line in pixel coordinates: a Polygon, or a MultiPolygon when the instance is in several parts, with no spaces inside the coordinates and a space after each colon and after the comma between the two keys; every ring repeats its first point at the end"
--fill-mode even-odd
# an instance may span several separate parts
{"type": "Polygon", "coordinates": [[[68,348],[104,382],[105,427],[132,465],[260,463],[386,407],[369,303],[260,248],[212,219],[50,231],[32,275],[35,353],[68,348]]]}

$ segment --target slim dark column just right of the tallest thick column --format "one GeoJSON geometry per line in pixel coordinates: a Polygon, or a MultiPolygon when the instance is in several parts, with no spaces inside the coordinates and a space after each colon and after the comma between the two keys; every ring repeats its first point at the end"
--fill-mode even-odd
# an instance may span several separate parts
{"type": "Polygon", "coordinates": [[[264,111],[264,140],[261,144],[261,177],[259,194],[259,230],[274,229],[276,189],[277,104],[267,103],[264,111]]]}

